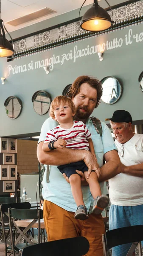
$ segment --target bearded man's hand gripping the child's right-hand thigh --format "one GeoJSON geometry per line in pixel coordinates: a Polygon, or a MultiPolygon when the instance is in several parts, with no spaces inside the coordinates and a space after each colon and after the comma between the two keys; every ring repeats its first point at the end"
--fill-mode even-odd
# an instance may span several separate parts
{"type": "Polygon", "coordinates": [[[87,154],[84,157],[84,163],[88,167],[88,172],[87,172],[87,179],[90,177],[90,173],[92,170],[94,170],[97,174],[97,177],[100,176],[100,168],[97,163],[97,158],[95,155],[91,154],[89,151],[86,151],[87,154]]]}

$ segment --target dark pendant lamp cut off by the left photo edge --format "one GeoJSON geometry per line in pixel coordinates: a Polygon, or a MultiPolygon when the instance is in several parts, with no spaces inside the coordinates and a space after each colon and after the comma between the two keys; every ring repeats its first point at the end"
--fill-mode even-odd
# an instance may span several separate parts
{"type": "MultiPolygon", "coordinates": [[[[1,14],[1,0],[0,0],[0,14],[1,14]]],[[[14,54],[14,42],[11,38],[11,35],[8,33],[11,38],[12,44],[6,39],[5,31],[8,33],[3,20],[0,19],[0,57],[8,57],[14,54]],[[3,28],[4,27],[4,28],[3,28]],[[2,34],[1,34],[2,30],[2,34]]]]}

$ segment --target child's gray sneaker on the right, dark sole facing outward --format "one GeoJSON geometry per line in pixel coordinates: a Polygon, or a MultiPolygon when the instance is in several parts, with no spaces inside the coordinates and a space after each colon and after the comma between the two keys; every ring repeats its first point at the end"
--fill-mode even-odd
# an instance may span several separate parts
{"type": "Polygon", "coordinates": [[[93,213],[100,214],[109,204],[107,195],[98,195],[93,203],[93,213]]]}

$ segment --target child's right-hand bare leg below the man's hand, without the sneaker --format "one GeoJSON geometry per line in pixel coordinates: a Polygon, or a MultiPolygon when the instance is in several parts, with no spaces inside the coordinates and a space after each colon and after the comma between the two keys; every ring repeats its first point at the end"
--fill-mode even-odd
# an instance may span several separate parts
{"type": "Polygon", "coordinates": [[[85,179],[90,186],[90,192],[95,199],[98,195],[101,195],[100,185],[98,183],[98,177],[95,172],[90,173],[90,177],[87,179],[87,172],[84,172],[85,179]]]}

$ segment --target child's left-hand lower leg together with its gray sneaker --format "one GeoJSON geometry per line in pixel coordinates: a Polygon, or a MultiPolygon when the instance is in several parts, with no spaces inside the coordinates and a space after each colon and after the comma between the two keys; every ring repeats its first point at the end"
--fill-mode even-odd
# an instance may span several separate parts
{"type": "Polygon", "coordinates": [[[69,180],[70,180],[70,186],[71,186],[73,198],[77,205],[75,218],[80,220],[86,220],[89,217],[87,215],[87,208],[84,206],[84,200],[83,200],[83,195],[81,190],[81,177],[77,174],[72,174],[69,180]]]}

